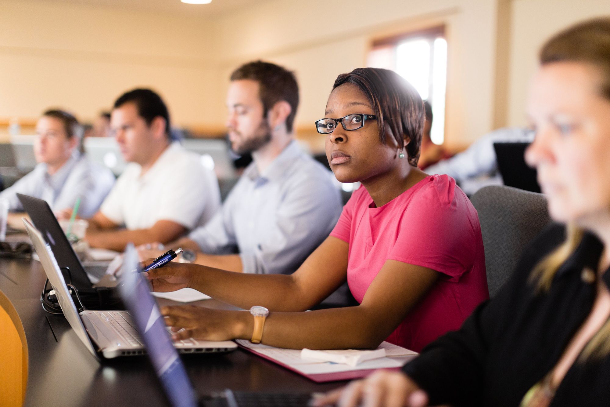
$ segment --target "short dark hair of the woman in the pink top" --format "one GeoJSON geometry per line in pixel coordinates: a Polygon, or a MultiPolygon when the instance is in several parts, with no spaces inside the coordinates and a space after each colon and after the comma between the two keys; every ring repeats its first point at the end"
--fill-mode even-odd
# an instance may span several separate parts
{"type": "Polygon", "coordinates": [[[417,166],[422,144],[424,122],[423,101],[417,90],[394,71],[381,68],[356,68],[337,76],[332,89],[344,83],[359,87],[373,107],[379,123],[379,139],[386,144],[386,123],[394,139],[402,146],[409,138],[409,164],[417,166]]]}

